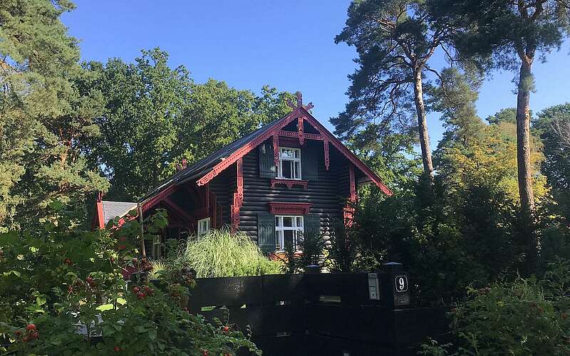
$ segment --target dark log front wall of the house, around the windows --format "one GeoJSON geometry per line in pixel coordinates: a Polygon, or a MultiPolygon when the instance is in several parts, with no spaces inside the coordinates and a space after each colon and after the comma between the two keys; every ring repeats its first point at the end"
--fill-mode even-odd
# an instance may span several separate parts
{"type": "Polygon", "coordinates": [[[269,211],[270,201],[314,204],[309,214],[320,217],[323,232],[331,231],[335,224],[342,223],[342,208],[349,191],[346,158],[331,145],[331,165],[327,171],[324,166],[322,141],[306,140],[305,145],[301,147],[301,156],[303,150],[318,150],[318,157],[322,157],[317,163],[318,180],[309,181],[307,189],[289,189],[281,185],[271,189],[270,179],[259,177],[259,151],[252,150],[244,156],[244,204],[239,214],[239,229],[249,234],[252,239],[257,241],[257,213],[269,211]]]}

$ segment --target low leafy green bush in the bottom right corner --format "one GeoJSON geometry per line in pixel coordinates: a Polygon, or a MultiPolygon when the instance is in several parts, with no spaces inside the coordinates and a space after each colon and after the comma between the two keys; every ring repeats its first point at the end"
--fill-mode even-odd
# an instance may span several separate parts
{"type": "Polygon", "coordinates": [[[432,340],[423,355],[569,355],[569,272],[569,263],[556,261],[541,281],[471,288],[470,298],[450,313],[455,342],[432,340]]]}

